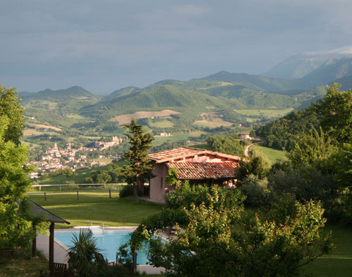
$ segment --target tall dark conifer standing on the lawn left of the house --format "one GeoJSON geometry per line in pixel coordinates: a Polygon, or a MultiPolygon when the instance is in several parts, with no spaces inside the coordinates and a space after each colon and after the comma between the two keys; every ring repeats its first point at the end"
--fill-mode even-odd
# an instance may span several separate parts
{"type": "Polygon", "coordinates": [[[151,176],[153,170],[148,156],[149,149],[153,146],[153,136],[134,119],[130,125],[125,125],[125,129],[128,131],[125,136],[130,143],[130,149],[123,157],[129,164],[122,167],[122,173],[125,181],[134,186],[134,200],[137,200],[139,185],[151,176]]]}

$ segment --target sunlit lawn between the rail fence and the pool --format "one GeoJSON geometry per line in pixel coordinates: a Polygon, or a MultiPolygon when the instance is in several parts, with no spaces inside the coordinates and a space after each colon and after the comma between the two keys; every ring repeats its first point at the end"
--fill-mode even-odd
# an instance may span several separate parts
{"type": "Polygon", "coordinates": [[[77,193],[52,193],[44,195],[30,195],[30,200],[69,221],[71,224],[56,224],[56,228],[70,228],[73,226],[88,226],[89,221],[99,225],[103,221],[105,226],[137,226],[142,219],[161,210],[161,205],[151,202],[134,202],[132,198],[119,198],[118,191],[77,193]]]}

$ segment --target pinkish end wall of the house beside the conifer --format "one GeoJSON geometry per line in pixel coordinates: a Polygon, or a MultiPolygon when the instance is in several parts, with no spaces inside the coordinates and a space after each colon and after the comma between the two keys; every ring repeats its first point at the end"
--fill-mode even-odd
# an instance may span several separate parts
{"type": "Polygon", "coordinates": [[[151,201],[165,203],[165,177],[168,175],[168,167],[165,164],[156,164],[153,174],[156,177],[150,180],[151,201]]]}

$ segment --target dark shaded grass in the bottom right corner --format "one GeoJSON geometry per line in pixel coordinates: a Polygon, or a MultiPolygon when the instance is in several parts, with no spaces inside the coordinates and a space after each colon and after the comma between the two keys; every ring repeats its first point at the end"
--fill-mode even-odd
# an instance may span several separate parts
{"type": "Polygon", "coordinates": [[[352,272],[352,228],[327,224],[336,249],[308,264],[304,273],[312,277],[344,277],[352,272]]]}

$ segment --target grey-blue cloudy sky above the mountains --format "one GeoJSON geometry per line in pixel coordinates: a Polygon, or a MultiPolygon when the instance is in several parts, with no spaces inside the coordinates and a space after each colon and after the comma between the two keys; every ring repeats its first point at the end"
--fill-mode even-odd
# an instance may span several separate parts
{"type": "Polygon", "coordinates": [[[351,0],[1,0],[0,84],[109,94],[352,46],[351,0]]]}

